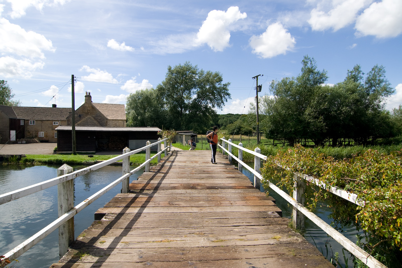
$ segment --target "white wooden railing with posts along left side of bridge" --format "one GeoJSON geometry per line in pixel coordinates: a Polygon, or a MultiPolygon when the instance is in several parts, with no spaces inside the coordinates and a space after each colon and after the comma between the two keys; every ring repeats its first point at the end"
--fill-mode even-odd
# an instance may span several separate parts
{"type": "Polygon", "coordinates": [[[59,232],[59,255],[60,255],[60,257],[62,257],[67,252],[68,245],[72,242],[71,237],[74,236],[74,224],[73,224],[73,222],[71,224],[71,220],[73,220],[74,215],[77,214],[78,212],[80,212],[81,210],[83,210],[85,207],[87,207],[93,201],[95,201],[96,199],[98,199],[99,197],[101,197],[102,195],[107,193],[109,190],[111,190],[115,186],[119,185],[120,183],[122,183],[122,193],[128,193],[130,176],[143,167],[145,167],[145,172],[148,172],[149,168],[150,168],[151,160],[153,160],[155,157],[158,157],[158,162],[159,162],[161,160],[161,154],[163,152],[167,153],[168,150],[169,151],[171,150],[171,145],[167,146],[167,139],[159,138],[157,142],[154,142],[151,144],[151,142],[148,141],[146,143],[146,146],[133,150],[133,151],[131,151],[129,148],[126,147],[125,149],[123,149],[123,154],[113,157],[109,160],[105,160],[103,162],[76,170],[76,171],[68,173],[68,174],[64,174],[64,175],[60,175],[60,176],[51,178],[50,180],[47,180],[42,183],[38,183],[35,185],[31,185],[31,186],[28,186],[28,187],[25,187],[25,188],[22,188],[19,190],[15,190],[15,191],[0,195],[0,205],[2,205],[5,203],[8,203],[8,202],[11,202],[13,200],[22,198],[24,196],[28,196],[28,195],[34,194],[36,192],[39,192],[39,191],[45,190],[47,188],[58,185],[58,186],[62,186],[62,187],[58,188],[58,195],[63,197],[63,198],[58,198],[58,200],[59,200],[58,207],[59,208],[64,207],[64,210],[65,210],[62,214],[60,214],[60,210],[59,210],[59,217],[55,221],[53,221],[52,223],[50,223],[49,225],[44,227],[42,230],[40,230],[39,232],[37,232],[36,234],[31,236],[30,238],[28,238],[23,243],[16,246],[15,248],[10,250],[6,254],[3,254],[2,257],[0,258],[0,267],[2,267],[4,264],[6,264],[7,261],[13,261],[17,257],[21,256],[24,252],[26,252],[28,249],[33,247],[35,244],[37,244],[39,241],[44,239],[47,235],[49,235],[51,232],[53,232],[54,230],[56,230],[59,227],[64,228],[64,230],[67,232],[67,233],[59,232]],[[161,149],[162,142],[164,143],[163,150],[161,149]],[[157,153],[151,157],[150,156],[151,155],[151,147],[153,147],[155,145],[158,146],[157,153]],[[144,151],[144,150],[145,150],[145,162],[130,171],[130,155],[144,151]],[[123,160],[123,168],[122,168],[123,175],[121,177],[119,177],[116,181],[112,182],[111,184],[104,187],[103,189],[99,190],[92,196],[88,197],[87,199],[85,199],[84,201],[79,203],[78,205],[73,206],[73,204],[72,204],[72,206],[70,208],[68,208],[68,204],[67,204],[68,202],[66,200],[73,200],[74,192],[73,192],[73,187],[68,187],[65,184],[69,184],[69,183],[71,184],[71,182],[73,181],[74,178],[81,176],[83,174],[89,173],[91,171],[97,170],[97,169],[107,166],[109,164],[112,164],[118,160],[123,160]],[[60,201],[60,199],[62,201],[60,201]],[[63,201],[64,201],[64,204],[60,203],[63,201]],[[70,227],[72,227],[72,229],[69,227],[66,227],[66,225],[69,225],[70,227]],[[60,233],[63,233],[62,237],[60,236],[60,233]]]}

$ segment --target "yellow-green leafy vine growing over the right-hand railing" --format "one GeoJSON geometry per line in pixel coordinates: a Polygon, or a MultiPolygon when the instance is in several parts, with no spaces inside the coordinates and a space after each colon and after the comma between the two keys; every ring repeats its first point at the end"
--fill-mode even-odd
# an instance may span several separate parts
{"type": "MultiPolygon", "coordinates": [[[[385,155],[375,150],[367,150],[351,159],[335,160],[320,153],[319,150],[297,145],[280,151],[275,156],[269,156],[261,172],[265,183],[269,180],[285,187],[289,192],[293,187],[293,173],[300,172],[319,178],[328,187],[339,187],[357,194],[359,200],[365,201],[365,205],[340,206],[333,202],[336,206],[335,211],[338,210],[336,217],[347,218],[354,215],[355,224],[359,224],[373,238],[364,242],[363,247],[369,253],[379,253],[378,250],[387,251],[380,254],[395,253],[399,255],[395,257],[400,264],[402,262],[401,154],[401,151],[385,155]]],[[[306,195],[307,207],[314,209],[319,200],[331,194],[325,190],[310,190],[306,195]]]]}

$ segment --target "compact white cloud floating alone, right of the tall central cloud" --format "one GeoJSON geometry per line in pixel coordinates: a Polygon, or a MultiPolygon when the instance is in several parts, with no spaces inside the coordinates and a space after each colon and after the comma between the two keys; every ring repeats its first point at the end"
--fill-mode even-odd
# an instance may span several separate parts
{"type": "Polygon", "coordinates": [[[280,23],[271,24],[263,34],[250,38],[253,53],[262,58],[272,58],[280,54],[286,54],[295,44],[294,37],[280,23]]]}

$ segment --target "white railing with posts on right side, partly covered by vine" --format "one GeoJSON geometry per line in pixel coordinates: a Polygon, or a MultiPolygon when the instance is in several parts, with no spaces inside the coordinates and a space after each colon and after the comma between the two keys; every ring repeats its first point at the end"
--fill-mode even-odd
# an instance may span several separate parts
{"type": "MultiPolygon", "coordinates": [[[[222,145],[221,144],[218,144],[218,145],[222,149],[223,154],[225,154],[225,152],[228,154],[229,161],[232,161],[232,158],[234,158],[238,162],[239,170],[241,170],[243,167],[245,167],[250,172],[252,172],[254,174],[254,187],[257,189],[260,189],[260,186],[261,186],[260,182],[261,182],[261,180],[263,180],[263,177],[259,172],[260,165],[261,165],[261,159],[266,160],[267,156],[261,154],[260,153],[261,150],[259,148],[255,148],[254,151],[252,151],[252,150],[243,148],[242,143],[239,143],[239,145],[232,143],[231,139],[226,140],[224,137],[221,140],[222,140],[222,145]],[[227,148],[226,148],[226,144],[228,145],[227,148]],[[232,154],[232,146],[238,148],[238,150],[239,150],[238,157],[236,155],[232,154]],[[254,169],[243,162],[243,151],[254,155],[254,169]]],[[[271,182],[267,182],[267,184],[269,185],[269,188],[271,188],[273,191],[275,191],[278,195],[280,195],[283,199],[285,199],[289,204],[291,204],[293,206],[293,211],[292,211],[293,228],[303,226],[304,225],[304,216],[306,216],[312,222],[314,222],[318,227],[320,227],[323,231],[325,231],[328,235],[330,235],[332,238],[334,238],[345,249],[347,249],[350,253],[352,253],[355,257],[357,257],[363,263],[365,263],[368,267],[370,267],[370,268],[374,268],[374,267],[386,268],[386,266],[384,264],[382,264],[380,261],[375,259],[373,256],[371,256],[369,253],[367,253],[363,249],[361,249],[355,243],[353,243],[348,238],[346,238],[343,234],[341,234],[336,229],[334,229],[331,225],[329,225],[328,223],[323,221],[320,217],[318,217],[313,212],[309,211],[304,205],[302,205],[302,203],[304,203],[302,201],[302,199],[304,198],[304,191],[306,189],[306,181],[314,183],[315,185],[317,185],[317,186],[329,191],[330,193],[337,195],[349,202],[352,202],[353,204],[356,204],[358,206],[364,206],[364,201],[358,200],[356,194],[349,193],[345,190],[342,190],[342,189],[339,189],[336,187],[327,188],[325,183],[321,182],[320,180],[318,180],[312,176],[308,176],[305,174],[300,174],[300,173],[294,174],[293,197],[286,194],[284,191],[279,189],[277,186],[275,186],[271,182]]]]}

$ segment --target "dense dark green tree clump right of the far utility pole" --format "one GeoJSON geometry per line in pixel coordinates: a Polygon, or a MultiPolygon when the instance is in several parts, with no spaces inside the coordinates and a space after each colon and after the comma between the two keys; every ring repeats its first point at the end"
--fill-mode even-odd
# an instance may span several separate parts
{"type": "Polygon", "coordinates": [[[348,70],[344,81],[326,85],[327,71],[318,70],[314,58],[305,56],[297,77],[272,81],[273,98],[263,98],[268,138],[311,139],[316,145],[341,138],[364,144],[369,138],[393,135],[383,100],[393,93],[383,66],[375,65],[364,78],[360,65],[348,70]]]}

